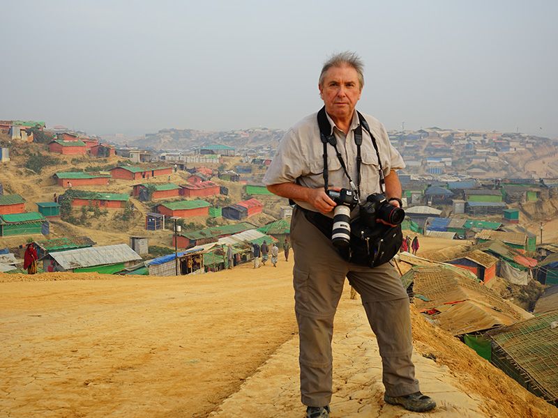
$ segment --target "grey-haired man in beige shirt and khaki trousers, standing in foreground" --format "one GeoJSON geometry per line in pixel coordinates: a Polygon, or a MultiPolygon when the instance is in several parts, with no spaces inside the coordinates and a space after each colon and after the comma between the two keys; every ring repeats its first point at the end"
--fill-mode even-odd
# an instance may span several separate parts
{"type": "MultiPolygon", "coordinates": [[[[295,314],[299,324],[301,401],[307,405],[306,417],[329,417],[332,388],[331,339],[333,316],[341,297],[345,277],[361,295],[368,321],[374,330],[382,356],[384,400],[422,412],[436,403],[419,392],[414,378],[409,299],[400,277],[391,263],[375,268],[349,263],[333,247],[331,238],[319,231],[306,217],[319,212],[333,217],[335,202],[324,190],[325,175],[330,189],[354,189],[350,178],[358,180],[361,199],[380,189],[379,162],[372,139],[362,132],[361,164],[357,164],[359,132],[356,102],[364,84],[363,64],[356,54],[337,54],[324,64],[319,77],[319,93],[324,101],[327,121],[344,161],[343,169],[333,144],[327,144],[327,171],[324,173],[324,145],[320,141],[317,114],[294,125],[280,142],[269,166],[264,184],[270,192],[296,203],[291,221],[291,244],[294,250],[295,314]],[[357,167],[360,165],[360,170],[357,167]],[[348,176],[347,176],[348,175],[348,176]],[[310,211],[310,212],[308,212],[310,211]]],[[[400,206],[401,185],[396,169],[405,167],[401,155],[389,142],[382,123],[364,115],[374,135],[389,203],[400,206]]],[[[352,212],[352,217],[358,209],[352,212]]],[[[318,215],[321,216],[321,215],[318,215]]]]}

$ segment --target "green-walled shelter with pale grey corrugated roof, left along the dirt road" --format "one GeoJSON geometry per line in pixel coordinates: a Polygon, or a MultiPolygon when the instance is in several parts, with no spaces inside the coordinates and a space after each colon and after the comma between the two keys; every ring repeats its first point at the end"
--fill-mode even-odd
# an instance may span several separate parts
{"type": "Polygon", "coordinates": [[[56,262],[59,271],[102,274],[114,274],[142,260],[142,257],[126,244],[51,252],[44,258],[43,263],[50,263],[51,258],[56,262]]]}

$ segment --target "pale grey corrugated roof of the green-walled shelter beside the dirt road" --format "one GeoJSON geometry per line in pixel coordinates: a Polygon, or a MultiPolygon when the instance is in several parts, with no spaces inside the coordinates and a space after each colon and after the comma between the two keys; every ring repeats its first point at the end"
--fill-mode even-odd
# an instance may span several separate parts
{"type": "Polygon", "coordinates": [[[68,251],[54,252],[49,255],[65,270],[126,263],[127,261],[140,261],[142,259],[126,244],[70,249],[68,251]]]}

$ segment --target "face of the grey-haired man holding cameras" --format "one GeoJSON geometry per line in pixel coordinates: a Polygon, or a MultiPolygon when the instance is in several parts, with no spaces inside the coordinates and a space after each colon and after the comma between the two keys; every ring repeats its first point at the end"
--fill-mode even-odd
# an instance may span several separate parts
{"type": "Polygon", "coordinates": [[[329,116],[334,120],[352,117],[362,92],[359,75],[354,68],[348,65],[329,68],[324,74],[324,82],[318,88],[329,116]]]}

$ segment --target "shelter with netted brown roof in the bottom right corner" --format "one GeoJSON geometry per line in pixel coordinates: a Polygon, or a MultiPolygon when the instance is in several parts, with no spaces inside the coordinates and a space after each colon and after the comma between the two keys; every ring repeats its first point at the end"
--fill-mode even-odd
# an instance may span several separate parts
{"type": "Polygon", "coordinates": [[[492,330],[492,364],[558,405],[558,310],[492,330]]]}

